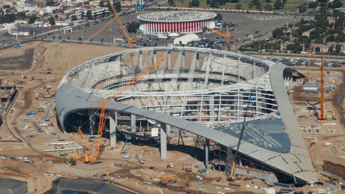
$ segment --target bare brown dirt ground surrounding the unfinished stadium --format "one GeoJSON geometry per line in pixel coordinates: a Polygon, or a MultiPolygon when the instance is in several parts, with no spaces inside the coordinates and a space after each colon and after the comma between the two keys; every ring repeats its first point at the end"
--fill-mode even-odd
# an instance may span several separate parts
{"type": "MultiPolygon", "coordinates": [[[[18,81],[22,82],[21,87],[23,87],[18,88],[16,99],[13,100],[11,105],[11,108],[14,108],[14,110],[7,113],[4,123],[0,126],[0,136],[2,137],[2,140],[15,140],[8,130],[5,131],[5,129],[9,129],[15,136],[22,139],[23,143],[19,141],[0,141],[1,156],[7,157],[6,160],[0,159],[0,166],[4,166],[4,168],[0,171],[0,176],[26,181],[28,193],[45,193],[51,188],[52,181],[56,180],[58,177],[95,177],[98,179],[102,174],[106,174],[103,179],[114,181],[117,185],[132,188],[135,190],[132,191],[134,193],[169,194],[187,192],[197,193],[198,191],[202,191],[204,193],[265,193],[265,191],[255,188],[255,186],[268,188],[268,186],[262,180],[244,181],[242,179],[236,182],[236,184],[241,186],[236,187],[228,186],[229,182],[226,181],[226,175],[224,172],[210,169],[208,174],[198,173],[198,168],[204,168],[202,157],[203,148],[195,146],[193,138],[196,137],[196,135],[194,134],[188,134],[188,137],[184,138],[185,146],[178,145],[177,138],[171,139],[168,147],[169,151],[167,159],[164,160],[160,159],[159,148],[155,145],[126,145],[125,151],[131,156],[129,160],[126,160],[125,158],[121,157],[121,147],[123,146],[123,142],[119,142],[117,148],[112,149],[109,145],[109,139],[106,138],[102,138],[101,141],[101,143],[105,145],[105,150],[101,155],[101,159],[99,160],[101,163],[93,165],[85,164],[80,161],[77,162],[76,166],[71,166],[70,164],[64,163],[63,156],[60,156],[62,151],[44,152],[45,150],[55,149],[55,145],[50,145],[51,143],[70,142],[76,146],[83,146],[85,144],[77,133],[61,132],[61,130],[58,128],[54,106],[52,106],[50,109],[47,117],[50,119],[49,122],[45,122],[43,119],[41,119],[42,117],[46,116],[48,111],[47,108],[43,108],[43,112],[37,112],[34,115],[25,114],[28,111],[37,110],[37,107],[39,107],[40,104],[46,104],[52,100],[51,98],[35,99],[34,91],[39,92],[41,91],[39,88],[42,87],[42,83],[37,78],[37,72],[41,74],[41,77],[45,80],[47,85],[52,85],[54,88],[59,83],[59,80],[58,82],[56,82],[56,80],[60,75],[61,69],[63,70],[61,74],[65,74],[69,69],[76,67],[85,61],[125,49],[108,46],[85,45],[70,58],[69,63],[67,63],[67,67],[63,68],[63,65],[66,64],[65,61],[67,59],[67,55],[63,54],[62,52],[67,52],[69,50],[71,53],[79,46],[80,44],[73,43],[61,44],[53,42],[30,42],[23,44],[23,49],[9,48],[3,50],[2,57],[6,58],[8,58],[8,56],[21,56],[23,55],[23,50],[30,50],[30,52],[25,52],[26,54],[23,55],[23,57],[26,58],[26,60],[30,59],[31,57],[31,66],[25,70],[14,70],[14,75],[11,75],[13,69],[2,70],[0,72],[3,81],[17,81],[17,79],[20,79],[18,81]],[[36,53],[40,53],[40,57],[34,56],[36,53]],[[36,63],[33,62],[34,60],[37,60],[36,63]],[[47,69],[50,70],[48,71],[47,69]],[[47,74],[47,72],[50,72],[50,74],[47,74]],[[35,79],[24,79],[22,76],[34,76],[35,79]],[[23,104],[17,104],[16,101],[23,101],[23,104]],[[53,125],[42,127],[40,126],[39,122],[41,124],[49,123],[53,125]],[[43,129],[45,133],[37,132],[37,129],[43,129]],[[53,132],[55,132],[56,135],[53,132]],[[68,140],[59,141],[59,138],[65,138],[68,140]],[[145,164],[139,164],[138,159],[134,158],[135,154],[140,154],[142,151],[144,151],[142,157],[145,159],[145,164]],[[195,159],[194,155],[198,155],[200,157],[196,157],[195,159]],[[30,160],[34,160],[34,163],[24,163],[21,159],[10,159],[10,157],[29,157],[30,160]],[[174,168],[166,167],[169,162],[175,163],[174,168]],[[115,163],[117,165],[130,165],[131,167],[121,168],[115,166],[115,163]],[[193,171],[185,172],[182,170],[183,163],[193,166],[193,171]],[[194,167],[193,164],[197,164],[199,167],[194,167]],[[155,167],[156,171],[149,169],[151,166],[155,167]],[[158,168],[161,168],[161,171],[158,171],[158,168]],[[199,181],[196,178],[196,175],[203,177],[203,181],[199,181]],[[158,185],[157,181],[154,181],[155,178],[159,178],[161,176],[176,177],[178,178],[178,182],[175,184],[168,184],[167,187],[161,187],[158,185]],[[219,177],[222,177],[223,180],[217,182],[219,177]],[[180,185],[187,179],[190,182],[188,189],[180,188],[180,185]],[[144,181],[151,182],[152,185],[144,184],[144,181]],[[207,187],[209,185],[218,186],[222,189],[215,190],[215,188],[207,187]]],[[[340,72],[339,69],[332,71],[340,72]]],[[[341,72],[341,76],[343,76],[344,71],[341,72]]],[[[316,71],[314,74],[316,77],[316,71]]],[[[333,96],[333,99],[335,99],[334,95],[344,93],[344,87],[340,87],[341,84],[342,82],[337,82],[336,91],[332,91],[329,94],[333,96]]],[[[297,88],[299,87],[300,86],[295,87],[295,90],[298,90],[297,88]]],[[[297,114],[300,115],[297,118],[300,124],[316,124],[317,119],[315,117],[309,117],[309,113],[305,112],[305,109],[303,109],[302,104],[306,104],[306,100],[304,99],[305,96],[302,94],[297,94],[297,91],[290,96],[292,97],[291,100],[294,101],[294,109],[298,110],[297,114]]],[[[315,96],[308,96],[308,99],[312,103],[316,103],[318,98],[315,96]]],[[[333,108],[331,108],[333,106],[332,100],[326,101],[326,104],[327,111],[333,110],[333,108]]],[[[327,114],[329,115],[328,112],[327,114]]],[[[339,110],[336,111],[336,114],[340,117],[339,110]]],[[[340,120],[341,119],[338,119],[336,122],[340,122],[340,120]]],[[[327,128],[327,125],[323,125],[323,131],[318,134],[301,132],[303,133],[306,145],[310,151],[310,157],[313,159],[314,167],[319,171],[323,170],[322,165],[325,158],[328,158],[329,160],[332,159],[332,161],[333,158],[338,161],[342,159],[340,155],[341,153],[344,153],[344,151],[342,151],[341,144],[344,142],[345,132],[342,123],[336,124],[336,132],[325,132],[325,130],[327,131],[327,129],[325,129],[327,128]],[[337,136],[336,140],[333,139],[335,134],[337,136]],[[316,145],[310,146],[308,139],[310,140],[314,137],[317,137],[319,141],[316,143],[316,145]],[[323,146],[324,142],[321,140],[330,142],[333,146],[336,146],[337,151],[339,152],[338,155],[332,154],[328,147],[323,146]]],[[[75,130],[75,132],[77,131],[75,130]]],[[[90,145],[94,144],[94,141],[90,142],[90,145]]],[[[179,142],[179,144],[181,144],[181,142],[179,142]]],[[[80,149],[77,149],[70,144],[56,145],[56,147],[59,149],[72,148],[70,151],[66,151],[73,152],[71,154],[83,153],[80,149]]],[[[212,151],[213,150],[210,149],[210,152],[212,151]]],[[[249,175],[244,175],[244,177],[247,176],[249,175]]],[[[321,175],[319,175],[319,178],[321,180],[326,180],[326,178],[321,175]]],[[[317,185],[314,187],[305,186],[303,189],[316,190],[317,187],[317,185]]],[[[279,188],[277,188],[277,190],[278,189],[279,188]]]]}

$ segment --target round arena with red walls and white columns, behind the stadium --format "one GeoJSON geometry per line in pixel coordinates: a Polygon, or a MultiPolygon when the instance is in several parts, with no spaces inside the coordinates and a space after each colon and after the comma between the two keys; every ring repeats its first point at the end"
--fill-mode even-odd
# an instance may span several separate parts
{"type": "Polygon", "coordinates": [[[214,28],[217,14],[206,11],[161,11],[139,15],[139,29],[145,33],[197,33],[214,28]]]}

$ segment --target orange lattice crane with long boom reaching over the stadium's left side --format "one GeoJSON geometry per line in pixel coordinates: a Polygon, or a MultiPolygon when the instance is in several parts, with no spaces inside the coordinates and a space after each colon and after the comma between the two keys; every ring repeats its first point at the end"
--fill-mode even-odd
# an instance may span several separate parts
{"type": "MultiPolygon", "coordinates": [[[[106,118],[107,118],[107,115],[105,113],[106,111],[106,105],[114,100],[117,96],[119,96],[120,94],[122,94],[125,90],[127,90],[128,88],[130,88],[132,85],[134,85],[135,83],[137,83],[142,77],[144,77],[145,75],[147,75],[149,72],[151,72],[152,70],[154,70],[157,66],[160,65],[160,63],[162,61],[166,60],[165,57],[161,58],[160,60],[158,60],[156,62],[156,64],[153,64],[150,68],[148,68],[147,70],[145,70],[144,72],[142,72],[138,77],[136,77],[135,79],[133,79],[132,81],[130,81],[129,84],[127,84],[126,86],[122,87],[119,91],[117,91],[114,95],[112,95],[110,98],[108,99],[104,99],[103,96],[101,95],[101,99],[102,99],[102,102],[97,102],[97,101],[91,101],[91,100],[87,100],[88,102],[91,102],[91,103],[94,103],[94,104],[97,104],[99,106],[101,106],[101,108],[99,110],[101,110],[101,113],[99,115],[99,125],[98,125],[98,132],[97,132],[97,139],[96,139],[96,145],[95,145],[95,154],[93,154],[92,151],[91,152],[91,157],[88,158],[88,156],[84,156],[84,160],[85,162],[89,162],[89,161],[96,161],[98,160],[98,154],[100,152],[100,141],[101,141],[101,137],[102,137],[102,134],[103,134],[103,128],[105,126],[105,122],[106,122],[106,118]]],[[[97,87],[98,88],[98,87],[97,87]]],[[[98,110],[97,110],[98,111],[98,110]]],[[[97,113],[97,111],[95,111],[95,113],[97,113]]],[[[80,130],[81,131],[81,130],[80,130]]],[[[79,131],[79,132],[80,132],[79,131]]],[[[82,135],[82,133],[80,133],[82,135]]],[[[86,144],[87,145],[87,144],[86,144]]],[[[89,149],[89,148],[88,148],[89,149]]]]}

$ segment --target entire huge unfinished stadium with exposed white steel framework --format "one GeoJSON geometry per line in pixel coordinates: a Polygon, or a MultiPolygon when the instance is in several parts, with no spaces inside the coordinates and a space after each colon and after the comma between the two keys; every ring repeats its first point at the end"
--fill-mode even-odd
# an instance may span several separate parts
{"type": "Polygon", "coordinates": [[[207,168],[229,173],[246,115],[236,174],[249,173],[275,186],[317,181],[286,91],[286,82],[304,75],[245,54],[153,47],[85,62],[63,77],[56,93],[60,128],[75,132],[82,126],[95,135],[98,118],[89,116],[99,106],[87,100],[111,97],[162,57],[166,60],[155,70],[107,104],[109,133],[104,135],[111,147],[130,134],[132,144],[159,142],[165,159],[167,144],[169,149],[179,146],[169,145],[170,138],[184,144],[190,132],[201,149],[189,154],[207,168]]]}

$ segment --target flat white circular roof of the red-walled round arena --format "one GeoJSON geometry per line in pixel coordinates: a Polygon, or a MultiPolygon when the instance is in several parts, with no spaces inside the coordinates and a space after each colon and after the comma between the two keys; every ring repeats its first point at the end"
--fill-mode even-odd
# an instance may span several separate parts
{"type": "Polygon", "coordinates": [[[202,19],[210,19],[216,17],[217,14],[207,11],[160,11],[144,13],[137,18],[147,21],[195,21],[202,19]]]}

